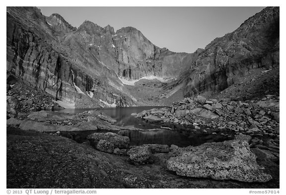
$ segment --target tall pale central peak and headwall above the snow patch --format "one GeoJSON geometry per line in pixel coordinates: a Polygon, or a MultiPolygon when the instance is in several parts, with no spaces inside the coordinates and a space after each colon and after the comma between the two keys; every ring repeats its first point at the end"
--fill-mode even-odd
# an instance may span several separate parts
{"type": "Polygon", "coordinates": [[[77,32],[66,37],[64,42],[84,42],[101,64],[127,80],[144,76],[172,78],[179,75],[178,70],[185,68],[196,57],[161,49],[136,28],[124,27],[114,32],[110,26],[102,28],[90,21],[80,25],[77,32]]]}

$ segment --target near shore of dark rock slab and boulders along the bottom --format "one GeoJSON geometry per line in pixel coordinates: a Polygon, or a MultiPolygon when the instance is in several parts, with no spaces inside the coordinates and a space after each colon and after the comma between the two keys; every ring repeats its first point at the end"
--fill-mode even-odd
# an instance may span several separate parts
{"type": "Polygon", "coordinates": [[[7,188],[279,188],[279,164],[247,139],[130,147],[111,132],[79,144],[8,126],[7,188]]]}

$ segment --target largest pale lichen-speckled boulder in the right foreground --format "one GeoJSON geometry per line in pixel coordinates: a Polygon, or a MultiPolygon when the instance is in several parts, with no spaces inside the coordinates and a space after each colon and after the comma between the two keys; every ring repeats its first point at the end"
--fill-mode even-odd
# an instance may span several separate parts
{"type": "Polygon", "coordinates": [[[263,173],[246,141],[229,140],[204,143],[184,148],[167,161],[167,168],[177,175],[238,180],[241,182],[267,182],[271,175],[263,173]]]}

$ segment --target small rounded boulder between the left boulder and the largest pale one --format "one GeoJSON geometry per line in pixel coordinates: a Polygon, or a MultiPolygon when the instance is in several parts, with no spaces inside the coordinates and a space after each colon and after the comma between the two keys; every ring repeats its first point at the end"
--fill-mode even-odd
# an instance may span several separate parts
{"type": "Polygon", "coordinates": [[[152,163],[152,152],[148,145],[135,146],[132,147],[127,154],[129,155],[129,160],[135,165],[152,163]]]}

